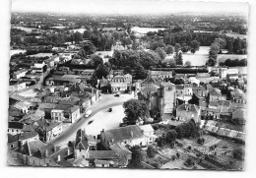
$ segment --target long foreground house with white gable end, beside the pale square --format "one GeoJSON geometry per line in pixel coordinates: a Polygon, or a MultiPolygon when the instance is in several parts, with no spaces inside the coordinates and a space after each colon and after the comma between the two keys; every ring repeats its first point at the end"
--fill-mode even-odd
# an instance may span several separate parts
{"type": "Polygon", "coordinates": [[[108,131],[100,132],[100,143],[104,148],[110,148],[114,144],[122,146],[148,146],[148,139],[138,125],[130,125],[108,131]]]}

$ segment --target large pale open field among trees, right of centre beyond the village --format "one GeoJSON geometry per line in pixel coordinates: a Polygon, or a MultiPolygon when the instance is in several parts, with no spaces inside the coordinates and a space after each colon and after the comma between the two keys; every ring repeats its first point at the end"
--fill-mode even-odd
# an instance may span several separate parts
{"type": "Polygon", "coordinates": [[[195,54],[191,52],[183,53],[183,64],[185,64],[186,61],[190,61],[192,66],[205,65],[209,58],[209,50],[210,46],[200,46],[199,51],[196,51],[195,54]]]}

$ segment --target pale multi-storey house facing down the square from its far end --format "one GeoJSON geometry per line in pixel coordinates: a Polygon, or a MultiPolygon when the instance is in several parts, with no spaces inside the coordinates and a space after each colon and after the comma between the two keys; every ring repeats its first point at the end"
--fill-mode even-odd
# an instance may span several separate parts
{"type": "Polygon", "coordinates": [[[112,91],[125,91],[128,89],[128,81],[124,76],[115,76],[110,82],[112,91]]]}

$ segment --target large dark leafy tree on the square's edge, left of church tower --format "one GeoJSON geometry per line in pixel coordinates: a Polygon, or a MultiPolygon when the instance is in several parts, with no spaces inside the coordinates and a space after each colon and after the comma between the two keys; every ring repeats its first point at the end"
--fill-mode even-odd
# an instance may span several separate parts
{"type": "Polygon", "coordinates": [[[148,117],[149,109],[145,101],[130,99],[123,103],[126,120],[130,123],[136,123],[139,118],[148,117]]]}

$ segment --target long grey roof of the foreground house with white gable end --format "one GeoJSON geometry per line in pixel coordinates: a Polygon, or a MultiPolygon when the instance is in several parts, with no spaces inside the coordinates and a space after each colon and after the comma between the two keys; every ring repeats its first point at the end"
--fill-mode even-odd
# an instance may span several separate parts
{"type": "Polygon", "coordinates": [[[143,138],[142,130],[137,125],[121,127],[113,130],[104,131],[107,140],[113,143],[123,142],[124,140],[134,140],[143,138]]]}

